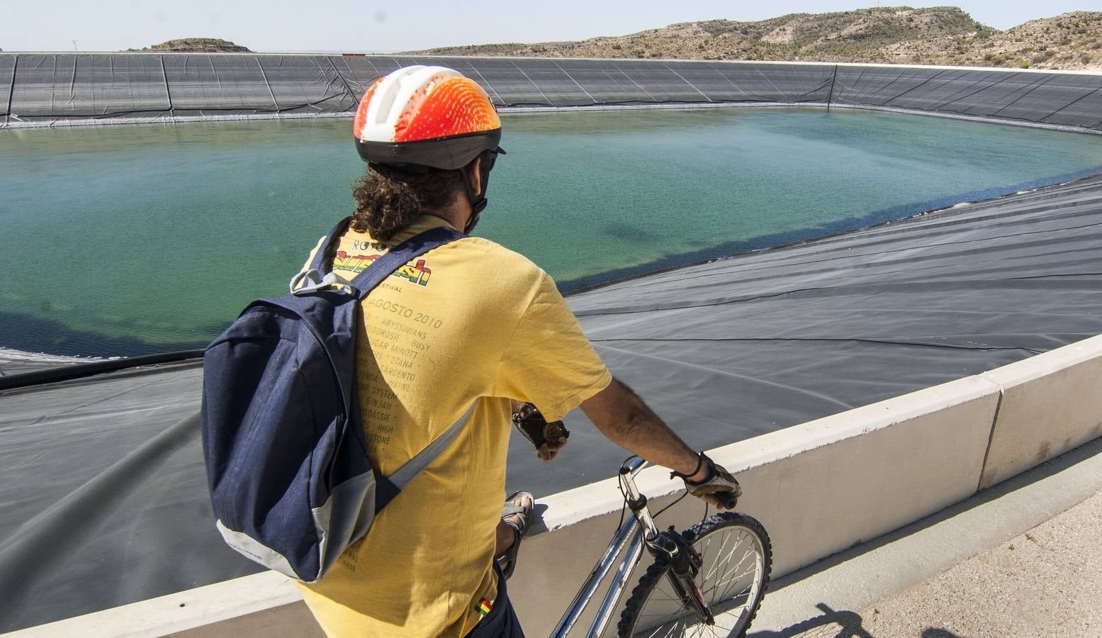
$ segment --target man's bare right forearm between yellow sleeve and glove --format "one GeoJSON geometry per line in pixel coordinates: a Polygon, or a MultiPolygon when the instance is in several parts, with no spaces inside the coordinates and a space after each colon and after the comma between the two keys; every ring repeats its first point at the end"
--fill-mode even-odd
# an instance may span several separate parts
{"type": "MultiPolygon", "coordinates": [[[[582,410],[613,443],[681,474],[696,469],[700,456],[618,380],[613,379],[607,388],[583,401],[582,410]]],[[[700,467],[689,478],[702,480],[709,471],[706,466],[700,467]]]]}

